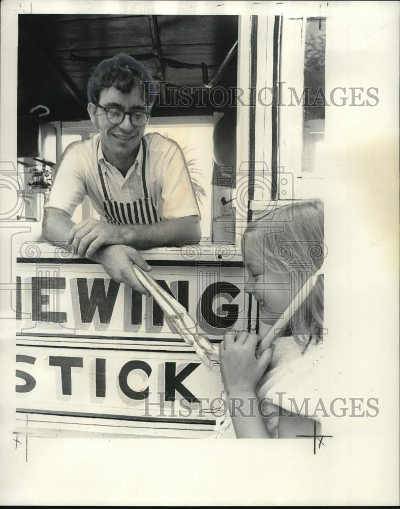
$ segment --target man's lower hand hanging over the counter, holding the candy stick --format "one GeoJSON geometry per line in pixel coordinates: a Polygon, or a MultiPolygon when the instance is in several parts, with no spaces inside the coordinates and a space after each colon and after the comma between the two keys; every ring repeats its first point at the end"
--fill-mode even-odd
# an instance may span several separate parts
{"type": "Polygon", "coordinates": [[[105,246],[99,249],[92,259],[101,263],[104,270],[114,281],[124,283],[124,285],[130,286],[137,292],[150,296],[135,276],[133,264],[146,272],[150,271],[151,267],[147,265],[146,261],[133,247],[122,245],[105,246]]]}

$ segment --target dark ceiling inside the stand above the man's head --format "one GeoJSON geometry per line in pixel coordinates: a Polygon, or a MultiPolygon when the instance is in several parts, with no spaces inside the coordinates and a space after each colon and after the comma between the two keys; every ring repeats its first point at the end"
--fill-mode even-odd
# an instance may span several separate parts
{"type": "MultiPolygon", "coordinates": [[[[119,52],[143,60],[156,79],[168,83],[167,91],[204,89],[201,63],[211,79],[237,33],[237,16],[19,15],[18,116],[44,104],[48,121],[87,119],[87,80],[101,60],[119,52]]],[[[235,55],[218,85],[235,87],[236,76],[235,55]]],[[[153,115],[199,114],[196,107],[172,109],[156,106],[153,115]]],[[[200,109],[204,114],[216,108],[200,109]]]]}

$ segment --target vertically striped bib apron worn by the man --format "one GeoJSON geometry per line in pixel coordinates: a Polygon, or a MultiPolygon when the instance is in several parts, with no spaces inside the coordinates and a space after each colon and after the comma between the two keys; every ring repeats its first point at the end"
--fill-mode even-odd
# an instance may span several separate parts
{"type": "MultiPolygon", "coordinates": [[[[100,140],[99,140],[100,143],[100,140]]],[[[155,224],[161,221],[157,216],[156,207],[151,196],[148,195],[146,185],[146,143],[142,138],[142,191],[143,198],[132,203],[120,203],[111,200],[111,192],[107,180],[104,179],[99,161],[97,162],[101,187],[103,191],[103,208],[108,223],[111,224],[155,224]]]]}

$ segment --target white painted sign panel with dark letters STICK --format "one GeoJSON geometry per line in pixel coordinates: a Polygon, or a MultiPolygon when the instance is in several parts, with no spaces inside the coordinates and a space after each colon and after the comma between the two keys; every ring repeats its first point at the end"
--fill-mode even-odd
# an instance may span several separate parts
{"type": "Polygon", "coordinates": [[[181,436],[191,429],[212,434],[221,408],[217,363],[208,371],[187,352],[51,346],[18,351],[17,412],[29,414],[31,427],[69,418],[85,419],[89,429],[124,427],[133,434],[181,436]]]}

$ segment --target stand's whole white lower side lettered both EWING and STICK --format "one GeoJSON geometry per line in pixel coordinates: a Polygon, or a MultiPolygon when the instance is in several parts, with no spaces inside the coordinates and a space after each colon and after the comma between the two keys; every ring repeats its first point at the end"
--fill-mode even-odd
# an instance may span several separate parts
{"type": "MultiPolygon", "coordinates": [[[[26,416],[31,431],[212,436],[223,410],[218,358],[207,370],[151,297],[118,284],[96,264],[17,267],[22,425],[26,416]]],[[[210,341],[245,328],[241,266],[155,266],[152,276],[210,341]]]]}

